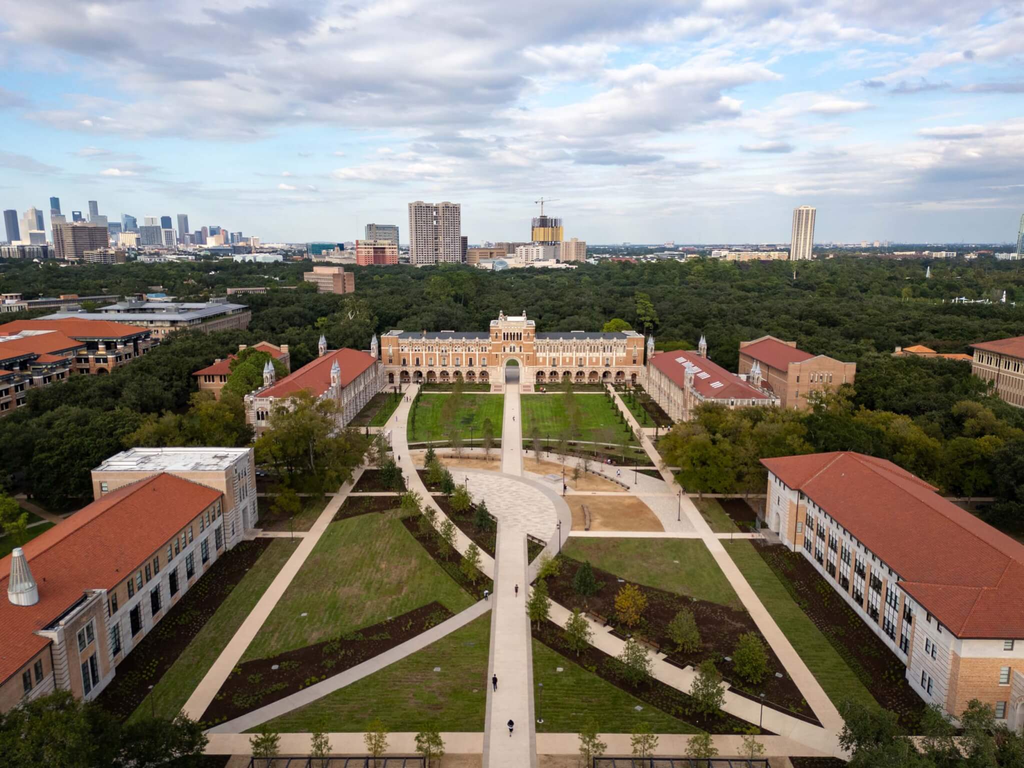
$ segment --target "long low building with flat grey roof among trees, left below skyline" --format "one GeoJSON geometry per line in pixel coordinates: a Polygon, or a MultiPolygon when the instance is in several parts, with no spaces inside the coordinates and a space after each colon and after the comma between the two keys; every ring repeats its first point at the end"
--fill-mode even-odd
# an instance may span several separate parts
{"type": "Polygon", "coordinates": [[[94,312],[56,312],[43,319],[103,319],[139,326],[162,339],[175,331],[228,331],[249,328],[252,311],[226,301],[184,303],[174,301],[119,301],[94,312]]]}

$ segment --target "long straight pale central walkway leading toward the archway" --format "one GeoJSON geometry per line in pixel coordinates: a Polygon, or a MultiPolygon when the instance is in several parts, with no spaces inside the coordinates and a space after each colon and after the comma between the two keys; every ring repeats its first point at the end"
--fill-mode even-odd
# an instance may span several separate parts
{"type": "MultiPolygon", "coordinates": [[[[502,473],[522,476],[522,415],[519,383],[505,387],[502,424],[502,473]]],[[[498,510],[495,510],[498,512],[498,510]]],[[[503,510],[504,511],[504,510],[503,510]]],[[[490,672],[498,690],[487,687],[483,735],[484,768],[537,766],[534,729],[534,656],[526,616],[526,523],[510,510],[499,517],[495,557],[495,594],[490,607],[490,672]],[[518,595],[515,592],[519,586],[518,595]],[[509,735],[508,721],[515,723],[509,735]]]]}

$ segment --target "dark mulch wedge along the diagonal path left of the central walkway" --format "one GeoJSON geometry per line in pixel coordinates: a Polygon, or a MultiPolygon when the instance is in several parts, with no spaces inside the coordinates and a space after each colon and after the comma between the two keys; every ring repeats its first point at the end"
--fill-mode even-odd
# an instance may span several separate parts
{"type": "Polygon", "coordinates": [[[233,720],[362,664],[453,615],[434,601],[330,640],[245,662],[228,675],[200,722],[210,727],[233,720]]]}

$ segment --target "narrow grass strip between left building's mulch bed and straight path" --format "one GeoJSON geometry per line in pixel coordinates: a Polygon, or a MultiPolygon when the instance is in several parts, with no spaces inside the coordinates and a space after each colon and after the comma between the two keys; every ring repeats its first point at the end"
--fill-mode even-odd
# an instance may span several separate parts
{"type": "Polygon", "coordinates": [[[157,717],[173,718],[188,696],[209,672],[217,656],[227,645],[239,627],[249,615],[270,582],[299,546],[298,539],[275,539],[270,542],[255,566],[231,590],[217,612],[193,638],[188,647],[154,687],[153,692],[132,713],[129,722],[148,718],[155,710],[157,717]],[[151,701],[152,697],[152,701],[151,701]]]}

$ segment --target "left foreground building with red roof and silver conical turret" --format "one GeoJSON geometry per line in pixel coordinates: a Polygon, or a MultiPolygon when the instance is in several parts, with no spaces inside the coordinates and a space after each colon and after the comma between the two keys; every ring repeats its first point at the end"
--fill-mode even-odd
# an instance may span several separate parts
{"type": "Polygon", "coordinates": [[[0,559],[0,711],[56,689],[95,698],[227,548],[223,498],[151,475],[0,559]]]}

